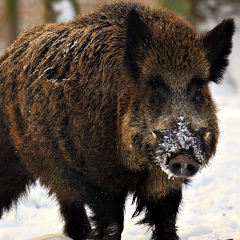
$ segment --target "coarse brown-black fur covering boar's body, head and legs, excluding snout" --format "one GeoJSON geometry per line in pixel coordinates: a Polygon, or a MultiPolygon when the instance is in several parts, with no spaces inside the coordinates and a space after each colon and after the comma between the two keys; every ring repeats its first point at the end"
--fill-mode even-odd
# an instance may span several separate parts
{"type": "Polygon", "coordinates": [[[208,131],[206,163],[214,155],[219,130],[208,83],[222,77],[233,31],[228,19],[198,35],[172,12],[116,3],[22,33],[0,57],[0,215],[39,179],[73,239],[120,239],[128,193],[135,215],[146,211],[153,239],[178,239],[186,179],[169,179],[153,164],[152,132],[183,116],[191,129],[208,131]]]}

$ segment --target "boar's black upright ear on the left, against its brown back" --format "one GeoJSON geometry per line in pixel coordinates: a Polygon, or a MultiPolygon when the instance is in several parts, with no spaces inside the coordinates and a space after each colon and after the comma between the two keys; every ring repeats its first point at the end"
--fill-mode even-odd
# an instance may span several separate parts
{"type": "Polygon", "coordinates": [[[138,58],[142,56],[141,45],[151,36],[151,30],[141,19],[138,11],[133,8],[125,19],[126,39],[124,65],[131,75],[139,76],[138,58]]]}

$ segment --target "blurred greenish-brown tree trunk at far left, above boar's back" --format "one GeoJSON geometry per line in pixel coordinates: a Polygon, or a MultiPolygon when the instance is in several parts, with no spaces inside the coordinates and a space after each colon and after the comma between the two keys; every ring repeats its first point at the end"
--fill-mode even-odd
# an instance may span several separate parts
{"type": "Polygon", "coordinates": [[[6,43],[10,45],[18,35],[18,0],[6,1],[6,43]]]}

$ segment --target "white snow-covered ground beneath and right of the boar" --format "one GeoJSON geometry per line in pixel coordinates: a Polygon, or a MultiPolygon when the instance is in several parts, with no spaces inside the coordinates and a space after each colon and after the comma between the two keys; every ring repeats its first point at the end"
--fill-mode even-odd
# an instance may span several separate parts
{"type": "MultiPolygon", "coordinates": [[[[184,190],[178,216],[182,240],[240,239],[240,18],[237,18],[230,66],[221,86],[213,86],[219,106],[221,138],[212,164],[184,190]]],[[[212,26],[211,26],[212,27],[212,26]]],[[[127,202],[124,240],[146,240],[146,229],[131,220],[134,206],[127,202]]],[[[67,240],[54,199],[39,185],[18,209],[0,221],[1,240],[67,240]]]]}

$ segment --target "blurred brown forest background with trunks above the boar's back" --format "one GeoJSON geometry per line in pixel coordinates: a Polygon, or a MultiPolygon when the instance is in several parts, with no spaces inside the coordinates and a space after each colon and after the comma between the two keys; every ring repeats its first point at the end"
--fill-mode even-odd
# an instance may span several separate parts
{"type": "MultiPolygon", "coordinates": [[[[115,0],[113,0],[115,1],[115,0]]],[[[152,7],[164,7],[185,16],[194,25],[219,16],[240,14],[240,0],[136,0],[152,7]]],[[[37,24],[67,21],[59,16],[70,7],[74,17],[93,11],[106,0],[0,0],[0,53],[27,28],[37,24]]],[[[69,11],[68,11],[69,13],[69,11]]],[[[221,21],[221,19],[219,19],[221,21]]]]}

